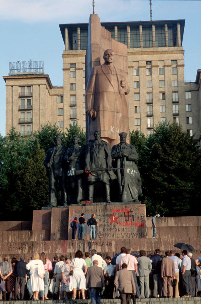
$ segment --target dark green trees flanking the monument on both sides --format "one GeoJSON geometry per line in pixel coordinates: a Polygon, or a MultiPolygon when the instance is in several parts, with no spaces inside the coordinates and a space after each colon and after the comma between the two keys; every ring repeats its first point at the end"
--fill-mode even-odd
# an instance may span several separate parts
{"type": "MultiPolygon", "coordinates": [[[[30,137],[20,136],[14,128],[6,137],[0,134],[1,220],[32,219],[32,210],[47,204],[48,178],[43,160],[57,135],[66,147],[72,145],[73,135],[85,144],[85,133],[78,125],[69,125],[60,133],[56,125],[46,124],[30,137]]],[[[198,215],[201,152],[194,138],[177,124],[161,123],[149,136],[132,131],[130,142],[139,156],[141,201],[147,214],[198,215]]]]}

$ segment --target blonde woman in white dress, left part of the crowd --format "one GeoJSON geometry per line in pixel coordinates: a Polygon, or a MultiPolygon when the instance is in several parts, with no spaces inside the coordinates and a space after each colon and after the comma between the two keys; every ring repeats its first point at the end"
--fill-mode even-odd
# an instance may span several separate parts
{"type": "Polygon", "coordinates": [[[26,269],[30,271],[30,291],[33,292],[33,300],[38,301],[39,291],[44,291],[44,280],[38,274],[45,274],[43,262],[39,259],[39,254],[35,253],[34,258],[26,265],[26,269]]]}

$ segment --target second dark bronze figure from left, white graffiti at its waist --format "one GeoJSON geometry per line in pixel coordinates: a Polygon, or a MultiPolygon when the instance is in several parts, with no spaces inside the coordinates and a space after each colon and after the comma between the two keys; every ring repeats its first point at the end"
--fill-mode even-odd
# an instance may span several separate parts
{"type": "Polygon", "coordinates": [[[81,147],[79,136],[73,136],[73,145],[66,150],[65,159],[68,162],[68,204],[80,204],[84,200],[84,180],[75,171],[84,168],[84,147],[81,147]]]}

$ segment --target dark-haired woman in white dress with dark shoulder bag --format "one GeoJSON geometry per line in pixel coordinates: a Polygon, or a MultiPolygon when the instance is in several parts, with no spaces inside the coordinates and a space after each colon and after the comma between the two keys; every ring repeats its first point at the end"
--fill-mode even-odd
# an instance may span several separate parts
{"type": "Polygon", "coordinates": [[[73,288],[73,296],[72,299],[76,298],[76,291],[81,290],[82,299],[85,299],[84,290],[86,289],[86,279],[85,274],[87,272],[87,265],[85,260],[83,259],[83,253],[81,250],[75,252],[75,258],[73,258],[71,262],[71,269],[73,270],[72,275],[72,288],[73,288]],[[83,272],[84,267],[84,272],[83,272]]]}

